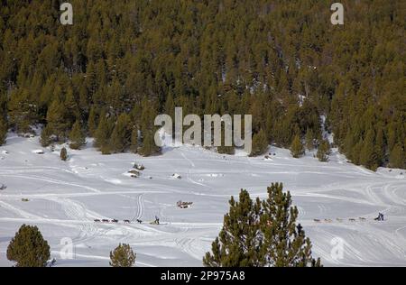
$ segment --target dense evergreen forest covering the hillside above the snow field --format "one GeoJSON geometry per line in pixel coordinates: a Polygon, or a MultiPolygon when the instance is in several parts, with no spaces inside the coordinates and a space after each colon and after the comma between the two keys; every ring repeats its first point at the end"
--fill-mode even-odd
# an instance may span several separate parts
{"type": "Polygon", "coordinates": [[[253,154],[328,131],[356,164],[406,167],[405,1],[341,1],[344,25],[320,0],[72,0],[61,25],[62,2],[0,1],[0,144],[43,125],[43,145],[151,155],[182,106],[252,114],[253,154]]]}

